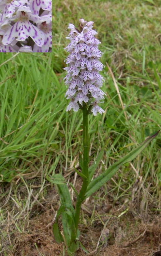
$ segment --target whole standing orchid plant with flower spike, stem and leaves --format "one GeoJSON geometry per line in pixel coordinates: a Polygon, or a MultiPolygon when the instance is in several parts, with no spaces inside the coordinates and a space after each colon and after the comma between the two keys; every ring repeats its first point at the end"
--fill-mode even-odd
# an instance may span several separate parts
{"type": "MultiPolygon", "coordinates": [[[[66,182],[62,174],[55,174],[52,177],[46,176],[46,179],[56,184],[61,199],[61,206],[57,212],[55,222],[53,224],[53,233],[56,242],[65,242],[67,254],[75,255],[79,246],[87,252],[79,240],[79,219],[81,204],[85,199],[90,197],[98,189],[100,189],[120,168],[124,163],[133,160],[158,134],[158,132],[148,137],[141,145],[123,156],[119,161],[110,165],[102,174],[94,177],[95,170],[104,154],[108,141],[99,152],[95,162],[89,166],[89,147],[90,138],[88,132],[88,116],[97,113],[105,113],[99,106],[104,99],[105,93],[101,90],[103,77],[99,71],[103,69],[103,64],[99,61],[102,53],[98,49],[100,42],[95,38],[97,32],[93,29],[93,22],[86,22],[80,19],[79,27],[69,24],[70,33],[66,37],[70,40],[69,45],[65,48],[69,52],[66,58],[67,71],[64,78],[65,84],[68,86],[65,97],[70,99],[66,111],[79,109],[83,114],[83,155],[79,154],[80,170],[75,172],[82,178],[82,186],[80,192],[76,190],[72,183],[66,182]],[[68,186],[74,190],[76,194],[76,202],[72,203],[68,186]],[[75,207],[73,206],[75,205],[75,207]],[[58,218],[62,216],[63,231],[58,226],[58,218]]],[[[87,252],[88,253],[88,252],[87,252]]]]}

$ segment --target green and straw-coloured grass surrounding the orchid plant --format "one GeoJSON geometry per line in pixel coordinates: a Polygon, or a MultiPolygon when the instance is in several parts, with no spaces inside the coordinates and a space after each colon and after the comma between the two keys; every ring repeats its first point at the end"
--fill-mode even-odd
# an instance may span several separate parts
{"type": "MultiPolygon", "coordinates": [[[[105,79],[103,91],[107,94],[103,104],[106,112],[96,118],[90,116],[91,155],[97,154],[109,136],[111,142],[98,173],[161,128],[160,1],[58,0],[54,1],[52,11],[51,54],[0,55],[2,255],[12,255],[17,232],[29,232],[26,227],[31,215],[39,215],[33,210],[34,205],[37,201],[39,206],[43,205],[53,191],[44,179],[45,174],[61,172],[73,181],[73,164],[82,150],[82,114],[65,112],[62,68],[67,56],[64,47],[68,43],[68,23],[77,24],[79,18],[93,20],[102,42],[99,48],[104,53],[101,61],[105,69],[101,73],[105,79]],[[124,110],[106,63],[114,74],[124,110]]],[[[124,165],[95,194],[92,217],[82,215],[81,225],[92,227],[102,218],[96,208],[107,197],[112,204],[125,207],[116,218],[121,213],[126,215],[127,209],[132,211],[131,202],[136,202],[141,216],[159,216],[160,147],[159,135],[137,159],[124,165]]]]}

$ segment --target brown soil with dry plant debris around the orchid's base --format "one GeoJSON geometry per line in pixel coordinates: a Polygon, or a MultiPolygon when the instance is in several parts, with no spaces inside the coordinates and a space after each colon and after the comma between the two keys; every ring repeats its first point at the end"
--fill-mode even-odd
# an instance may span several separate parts
{"type": "MultiPolygon", "coordinates": [[[[62,244],[57,244],[52,234],[53,217],[59,207],[57,199],[58,197],[51,200],[49,197],[42,207],[38,204],[34,206],[29,221],[26,222],[25,232],[16,231],[14,237],[11,237],[14,247],[8,256],[63,255],[62,244]]],[[[112,205],[108,197],[105,199],[99,204],[90,199],[83,206],[80,241],[90,252],[89,255],[161,256],[160,215],[140,215],[136,213],[133,202],[131,209],[118,217],[126,207],[118,202],[112,205]]],[[[76,253],[76,256],[83,255],[86,253],[82,249],[76,253]]]]}

